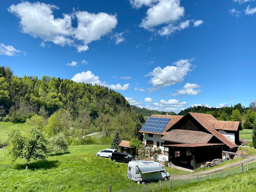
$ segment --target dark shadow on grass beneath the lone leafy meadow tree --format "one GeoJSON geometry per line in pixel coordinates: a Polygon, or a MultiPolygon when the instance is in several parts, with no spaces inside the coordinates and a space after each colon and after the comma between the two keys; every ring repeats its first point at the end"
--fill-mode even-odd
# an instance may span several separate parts
{"type": "MultiPolygon", "coordinates": [[[[36,169],[51,169],[58,166],[59,166],[58,160],[50,160],[50,161],[38,160],[38,161],[31,162],[28,166],[28,169],[34,171],[36,169]]],[[[19,169],[19,170],[25,169],[25,167],[26,167],[26,163],[15,164],[14,166],[15,169],[19,169]]]]}

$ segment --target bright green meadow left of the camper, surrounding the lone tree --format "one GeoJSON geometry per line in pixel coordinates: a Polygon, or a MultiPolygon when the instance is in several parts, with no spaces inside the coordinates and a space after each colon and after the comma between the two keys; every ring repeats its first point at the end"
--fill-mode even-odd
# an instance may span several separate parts
{"type": "MultiPolygon", "coordinates": [[[[137,186],[127,179],[127,164],[96,157],[109,145],[71,146],[70,153],[49,156],[47,162],[34,162],[29,170],[17,161],[12,164],[0,150],[0,191],[107,191],[137,186]]],[[[170,175],[184,171],[168,169],[170,175]]]]}

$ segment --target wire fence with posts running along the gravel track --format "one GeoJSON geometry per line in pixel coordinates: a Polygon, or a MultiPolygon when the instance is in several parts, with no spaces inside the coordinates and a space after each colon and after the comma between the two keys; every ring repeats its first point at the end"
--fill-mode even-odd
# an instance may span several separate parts
{"type": "MultiPolygon", "coordinates": [[[[251,169],[256,169],[256,163],[246,163],[241,164],[241,166],[228,169],[225,171],[221,171],[218,173],[209,173],[204,174],[202,176],[196,175],[190,179],[185,179],[189,177],[189,175],[184,175],[184,179],[179,180],[168,180],[168,181],[157,181],[157,182],[151,182],[151,183],[144,183],[144,184],[138,184],[138,186],[133,188],[126,188],[122,190],[115,190],[115,187],[110,186],[109,190],[98,190],[98,192],[155,192],[160,191],[163,189],[170,189],[170,188],[176,188],[179,186],[183,186],[189,183],[198,183],[201,181],[211,180],[211,179],[217,179],[217,178],[224,178],[228,177],[230,175],[236,175],[239,173],[245,173],[247,171],[250,171],[251,169]]],[[[132,182],[132,181],[131,181],[132,182]]]]}

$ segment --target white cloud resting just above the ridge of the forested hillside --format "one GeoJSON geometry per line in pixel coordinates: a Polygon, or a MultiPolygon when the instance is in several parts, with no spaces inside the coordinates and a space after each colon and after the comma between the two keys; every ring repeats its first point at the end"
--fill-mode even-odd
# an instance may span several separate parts
{"type": "Polygon", "coordinates": [[[108,85],[105,81],[101,82],[99,76],[94,75],[91,71],[77,73],[71,79],[77,83],[91,83],[92,85],[102,85],[115,90],[127,90],[129,88],[129,83],[124,84],[123,86],[119,83],[117,85],[108,85]]]}

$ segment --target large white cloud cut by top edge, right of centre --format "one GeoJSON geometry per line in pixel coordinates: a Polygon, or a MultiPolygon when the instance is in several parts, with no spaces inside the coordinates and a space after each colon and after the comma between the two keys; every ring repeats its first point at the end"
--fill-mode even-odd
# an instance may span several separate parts
{"type": "Polygon", "coordinates": [[[157,4],[147,10],[147,16],[142,19],[140,27],[150,29],[160,24],[179,20],[184,15],[184,7],[179,0],[159,0],[157,4]]]}

